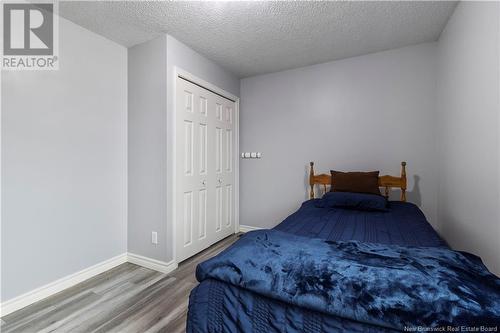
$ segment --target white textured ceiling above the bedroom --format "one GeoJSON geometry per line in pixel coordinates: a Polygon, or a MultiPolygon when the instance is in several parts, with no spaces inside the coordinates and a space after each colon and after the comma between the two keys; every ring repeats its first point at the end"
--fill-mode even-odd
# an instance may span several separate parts
{"type": "Polygon", "coordinates": [[[169,33],[240,77],[435,41],[456,2],[60,2],[132,46],[169,33]]]}

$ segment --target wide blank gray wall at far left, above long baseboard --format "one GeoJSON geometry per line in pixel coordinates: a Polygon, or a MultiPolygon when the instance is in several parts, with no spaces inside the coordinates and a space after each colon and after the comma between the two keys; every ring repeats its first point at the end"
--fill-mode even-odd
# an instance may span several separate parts
{"type": "Polygon", "coordinates": [[[126,251],[127,50],[65,19],[58,71],[2,73],[2,300],[126,251]]]}

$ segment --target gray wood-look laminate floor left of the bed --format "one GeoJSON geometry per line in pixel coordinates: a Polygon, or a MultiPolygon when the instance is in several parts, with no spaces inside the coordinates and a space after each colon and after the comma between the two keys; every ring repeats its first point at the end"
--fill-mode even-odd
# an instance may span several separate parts
{"type": "Polygon", "coordinates": [[[0,320],[10,332],[185,332],[196,265],[235,242],[232,235],[170,274],[126,263],[0,320]]]}

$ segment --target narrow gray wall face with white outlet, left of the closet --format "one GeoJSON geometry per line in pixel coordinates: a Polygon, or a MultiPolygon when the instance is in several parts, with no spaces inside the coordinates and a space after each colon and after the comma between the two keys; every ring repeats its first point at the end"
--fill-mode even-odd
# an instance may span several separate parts
{"type": "Polygon", "coordinates": [[[167,259],[167,39],[128,50],[128,251],[167,259]],[[151,243],[151,232],[158,244],[151,243]]]}

